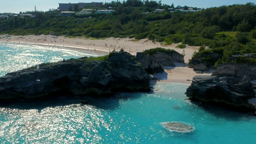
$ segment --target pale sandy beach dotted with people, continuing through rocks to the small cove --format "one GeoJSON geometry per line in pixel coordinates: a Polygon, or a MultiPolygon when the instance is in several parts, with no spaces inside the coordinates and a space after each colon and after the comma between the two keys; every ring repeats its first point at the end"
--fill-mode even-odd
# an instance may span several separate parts
{"type": "Polygon", "coordinates": [[[162,46],[159,42],[152,42],[151,40],[142,39],[135,40],[134,38],[105,38],[105,39],[90,39],[90,38],[67,38],[64,36],[58,36],[58,38],[52,38],[52,35],[28,35],[28,36],[11,36],[5,37],[5,35],[0,35],[0,42],[8,42],[15,44],[38,44],[46,48],[65,48],[70,50],[86,50],[92,51],[97,54],[108,54],[114,49],[120,51],[121,48],[124,51],[129,52],[132,55],[136,55],[137,52],[142,52],[150,48],[167,48],[173,49],[180,54],[185,50],[185,64],[176,63],[176,67],[165,66],[165,72],[160,74],[154,74],[152,77],[157,78],[157,80],[152,80],[152,82],[175,82],[175,83],[185,83],[191,84],[191,80],[196,75],[211,75],[213,71],[204,72],[204,74],[196,74],[192,68],[187,68],[186,64],[188,60],[192,57],[194,51],[198,51],[197,46],[186,46],[184,49],[175,48],[178,44],[172,44],[168,46],[162,46]],[[171,69],[171,70],[168,70],[171,69]]]}

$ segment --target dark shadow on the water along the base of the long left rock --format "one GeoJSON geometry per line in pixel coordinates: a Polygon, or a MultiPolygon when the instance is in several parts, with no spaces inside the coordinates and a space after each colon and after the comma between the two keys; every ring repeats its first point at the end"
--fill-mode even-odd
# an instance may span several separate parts
{"type": "Polygon", "coordinates": [[[39,111],[47,107],[67,106],[71,104],[91,105],[104,110],[112,110],[120,108],[120,100],[137,99],[142,96],[142,93],[118,93],[114,96],[55,96],[48,98],[24,99],[10,103],[1,102],[0,107],[30,110],[37,109],[39,111]]]}

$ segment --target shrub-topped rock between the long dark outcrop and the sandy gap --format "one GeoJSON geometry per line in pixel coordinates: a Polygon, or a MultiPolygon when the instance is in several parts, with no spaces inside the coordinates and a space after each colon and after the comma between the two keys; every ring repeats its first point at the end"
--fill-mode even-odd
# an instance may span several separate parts
{"type": "Polygon", "coordinates": [[[178,52],[156,52],[152,55],[137,52],[136,60],[149,74],[164,72],[164,66],[175,66],[174,62],[184,63],[183,56],[178,52]]]}

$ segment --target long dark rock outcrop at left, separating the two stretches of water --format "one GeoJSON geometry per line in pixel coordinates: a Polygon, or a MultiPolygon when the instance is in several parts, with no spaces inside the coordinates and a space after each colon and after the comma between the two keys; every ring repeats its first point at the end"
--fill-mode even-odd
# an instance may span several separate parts
{"type": "Polygon", "coordinates": [[[106,60],[85,57],[8,73],[0,78],[0,99],[149,92],[149,80],[134,56],[112,52],[106,60]]]}

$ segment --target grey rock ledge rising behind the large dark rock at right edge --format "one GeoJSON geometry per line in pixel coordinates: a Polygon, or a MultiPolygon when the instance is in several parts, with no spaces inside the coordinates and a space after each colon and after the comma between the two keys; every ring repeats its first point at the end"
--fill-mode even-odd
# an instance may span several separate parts
{"type": "Polygon", "coordinates": [[[250,77],[251,80],[256,80],[256,66],[249,64],[226,63],[218,65],[215,72],[212,73],[212,76],[232,76],[240,79],[242,79],[244,75],[250,77]]]}

